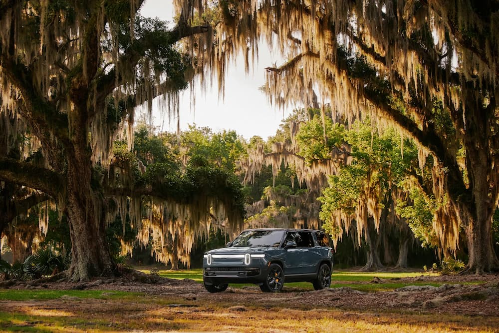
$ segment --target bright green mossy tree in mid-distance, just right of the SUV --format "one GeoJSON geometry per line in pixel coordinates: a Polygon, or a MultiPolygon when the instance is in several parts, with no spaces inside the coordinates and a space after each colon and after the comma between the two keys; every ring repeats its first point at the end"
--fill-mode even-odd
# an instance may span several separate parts
{"type": "MultiPolygon", "coordinates": [[[[404,156],[400,137],[387,129],[378,134],[369,121],[355,122],[344,134],[351,147],[351,162],[330,176],[329,187],[319,200],[323,203],[319,216],[323,227],[335,238],[356,226],[358,245],[365,240],[367,264],[364,270],[382,267],[380,249],[389,232],[400,239],[398,266],[407,267],[410,233],[407,224],[394,214],[394,205],[402,189],[397,187],[412,168],[414,147],[406,142],[404,156]]],[[[388,247],[388,242],[385,242],[388,247]]]]}

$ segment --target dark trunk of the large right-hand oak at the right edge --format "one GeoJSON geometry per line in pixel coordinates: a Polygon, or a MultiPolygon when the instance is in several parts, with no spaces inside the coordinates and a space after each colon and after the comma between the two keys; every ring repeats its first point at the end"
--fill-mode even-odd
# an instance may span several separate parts
{"type": "MultiPolygon", "coordinates": [[[[482,100],[477,89],[468,87],[464,108],[466,122],[461,123],[463,144],[466,149],[468,186],[451,188],[458,214],[463,224],[469,252],[468,269],[476,274],[499,270],[499,260],[494,252],[492,218],[498,204],[498,170],[493,159],[498,143],[491,128],[491,119],[497,119],[494,98],[482,100]]],[[[452,181],[452,180],[451,180],[452,181]]],[[[451,184],[452,186],[452,184],[451,184]]]]}

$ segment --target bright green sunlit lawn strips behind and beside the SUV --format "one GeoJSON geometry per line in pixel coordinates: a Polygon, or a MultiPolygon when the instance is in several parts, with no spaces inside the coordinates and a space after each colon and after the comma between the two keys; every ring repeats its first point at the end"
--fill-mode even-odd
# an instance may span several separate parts
{"type": "MultiPolygon", "coordinates": [[[[150,270],[141,270],[141,272],[149,274],[150,270]]],[[[161,277],[170,279],[191,279],[198,283],[203,283],[203,270],[193,269],[189,271],[169,271],[159,270],[158,274],[161,277]]],[[[421,273],[421,272],[347,272],[347,271],[334,271],[331,275],[331,288],[349,287],[363,292],[378,292],[378,291],[391,291],[397,288],[406,287],[409,285],[414,286],[434,286],[440,287],[444,283],[428,283],[428,282],[410,282],[400,283],[397,280],[402,278],[416,278],[421,275],[436,276],[436,273],[421,273]],[[383,280],[383,283],[369,283],[374,277],[383,280]]],[[[472,284],[480,284],[481,282],[473,282],[472,284]]],[[[231,284],[232,288],[243,288],[253,286],[250,284],[231,284]]],[[[303,289],[313,290],[312,284],[308,282],[293,282],[284,284],[286,289],[303,289]]]]}

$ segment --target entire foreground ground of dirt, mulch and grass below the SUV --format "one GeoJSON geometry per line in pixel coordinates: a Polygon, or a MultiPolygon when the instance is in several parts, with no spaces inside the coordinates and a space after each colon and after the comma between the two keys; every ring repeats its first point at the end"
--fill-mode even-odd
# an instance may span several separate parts
{"type": "MultiPolygon", "coordinates": [[[[499,332],[499,275],[380,279],[362,292],[258,287],[210,294],[193,280],[134,272],[115,279],[0,284],[0,332],[499,332]],[[16,296],[17,295],[17,296],[16,296]]],[[[351,284],[349,284],[351,285],[351,284]]]]}

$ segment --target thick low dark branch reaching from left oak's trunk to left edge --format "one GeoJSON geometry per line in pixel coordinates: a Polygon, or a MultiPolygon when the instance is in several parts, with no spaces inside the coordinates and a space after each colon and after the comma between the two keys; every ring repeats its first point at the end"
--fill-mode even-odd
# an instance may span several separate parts
{"type": "Polygon", "coordinates": [[[58,173],[11,158],[0,158],[0,179],[42,191],[53,198],[57,198],[64,187],[58,173]]]}

